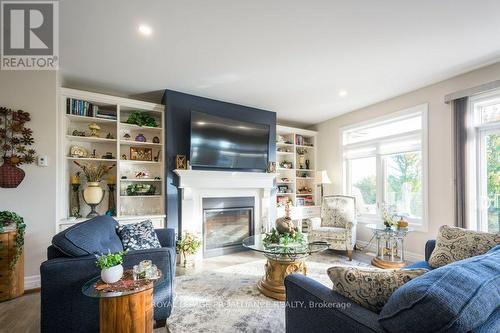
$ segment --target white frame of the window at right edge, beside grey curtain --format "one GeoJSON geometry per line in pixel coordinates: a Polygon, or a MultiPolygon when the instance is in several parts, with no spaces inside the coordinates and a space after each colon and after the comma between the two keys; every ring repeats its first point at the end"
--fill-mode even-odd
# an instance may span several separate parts
{"type": "Polygon", "coordinates": [[[467,178],[470,188],[475,191],[467,199],[469,214],[468,228],[477,231],[488,231],[488,206],[487,206],[487,173],[486,173],[486,136],[500,132],[500,121],[482,123],[480,110],[477,104],[490,104],[492,100],[500,100],[500,91],[492,91],[470,98],[469,108],[473,125],[473,140],[469,147],[469,156],[472,161],[468,165],[467,178]]]}

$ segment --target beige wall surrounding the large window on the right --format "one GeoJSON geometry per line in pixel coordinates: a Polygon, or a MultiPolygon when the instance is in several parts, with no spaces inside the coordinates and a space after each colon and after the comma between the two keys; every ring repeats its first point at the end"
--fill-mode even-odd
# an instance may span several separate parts
{"type": "MultiPolygon", "coordinates": [[[[415,90],[381,103],[356,110],[315,126],[318,134],[318,169],[328,170],[333,184],[325,193],[342,192],[342,157],[339,129],[370,118],[429,103],[429,214],[428,231],[415,232],[407,239],[410,252],[423,255],[427,239],[435,238],[439,226],[453,225],[453,146],[450,105],[444,96],[465,88],[500,79],[500,63],[496,63],[437,84],[415,90]]],[[[355,97],[349,97],[355,98],[355,97]]],[[[358,226],[358,239],[367,241],[371,232],[358,226]]]]}

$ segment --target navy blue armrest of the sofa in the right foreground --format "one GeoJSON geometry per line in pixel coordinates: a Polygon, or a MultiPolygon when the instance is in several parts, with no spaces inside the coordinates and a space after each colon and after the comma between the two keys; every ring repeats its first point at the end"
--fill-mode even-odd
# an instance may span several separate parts
{"type": "Polygon", "coordinates": [[[285,279],[287,333],[384,332],[378,315],[301,274],[285,279]]]}

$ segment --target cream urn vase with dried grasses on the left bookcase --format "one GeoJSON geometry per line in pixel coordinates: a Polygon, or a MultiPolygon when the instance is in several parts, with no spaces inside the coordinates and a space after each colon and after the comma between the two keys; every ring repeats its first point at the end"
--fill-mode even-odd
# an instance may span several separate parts
{"type": "Polygon", "coordinates": [[[78,165],[87,178],[87,187],[83,190],[83,200],[87,203],[91,210],[87,217],[95,217],[99,214],[96,212],[95,208],[101,203],[104,198],[104,190],[99,186],[102,178],[109,172],[109,170],[115,167],[115,164],[111,166],[106,166],[104,164],[86,163],[80,164],[74,161],[78,165]]]}

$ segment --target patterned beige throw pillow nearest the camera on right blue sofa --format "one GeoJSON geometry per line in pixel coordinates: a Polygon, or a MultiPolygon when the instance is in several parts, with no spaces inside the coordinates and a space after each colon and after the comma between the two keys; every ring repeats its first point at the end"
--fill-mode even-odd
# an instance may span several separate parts
{"type": "Polygon", "coordinates": [[[379,313],[392,293],[426,269],[384,270],[361,267],[330,267],[333,290],[364,308],[379,313]]]}

